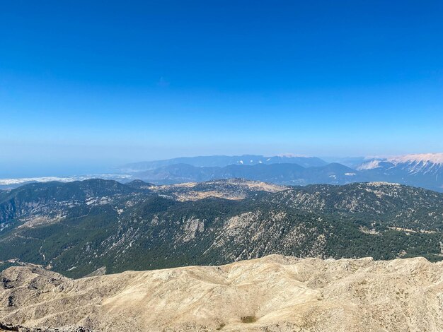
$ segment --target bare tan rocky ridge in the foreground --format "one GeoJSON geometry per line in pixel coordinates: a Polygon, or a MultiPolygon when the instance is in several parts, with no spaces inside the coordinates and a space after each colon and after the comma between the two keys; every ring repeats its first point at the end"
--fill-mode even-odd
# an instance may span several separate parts
{"type": "Polygon", "coordinates": [[[443,263],[423,258],[271,255],[77,280],[21,266],[0,280],[3,326],[41,328],[23,331],[443,331],[443,263]]]}

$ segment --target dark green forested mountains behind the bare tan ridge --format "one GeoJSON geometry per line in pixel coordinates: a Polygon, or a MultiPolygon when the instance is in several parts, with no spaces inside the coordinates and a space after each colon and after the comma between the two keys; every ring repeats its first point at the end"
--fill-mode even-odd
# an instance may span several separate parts
{"type": "Polygon", "coordinates": [[[443,194],[383,182],[48,182],[0,191],[0,264],[69,277],[268,254],[442,259],[443,194]]]}

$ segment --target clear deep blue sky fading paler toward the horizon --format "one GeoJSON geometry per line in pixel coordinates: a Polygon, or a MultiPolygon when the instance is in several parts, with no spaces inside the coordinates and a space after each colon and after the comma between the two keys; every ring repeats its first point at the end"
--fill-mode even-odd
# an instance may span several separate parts
{"type": "Polygon", "coordinates": [[[443,1],[1,1],[0,177],[442,151],[443,1]]]}

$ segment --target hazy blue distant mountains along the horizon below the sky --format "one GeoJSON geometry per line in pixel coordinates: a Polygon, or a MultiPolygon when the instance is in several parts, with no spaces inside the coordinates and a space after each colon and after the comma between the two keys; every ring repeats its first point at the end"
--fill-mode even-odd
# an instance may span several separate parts
{"type": "MultiPolygon", "coordinates": [[[[344,159],[342,159],[344,160],[344,159]]],[[[443,153],[354,158],[352,167],[303,156],[261,155],[176,158],[125,165],[119,171],[154,184],[244,179],[283,185],[392,182],[443,191],[443,153]],[[355,163],[359,161],[358,163],[355,163]]]]}

